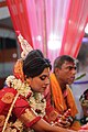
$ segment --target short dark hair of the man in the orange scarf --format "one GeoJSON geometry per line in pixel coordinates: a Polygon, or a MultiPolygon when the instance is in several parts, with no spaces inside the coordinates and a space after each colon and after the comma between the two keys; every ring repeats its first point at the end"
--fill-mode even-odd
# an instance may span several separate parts
{"type": "Polygon", "coordinates": [[[58,56],[56,57],[56,59],[54,61],[54,70],[56,67],[58,68],[62,68],[62,65],[65,63],[65,62],[70,62],[70,63],[75,63],[77,64],[77,59],[69,56],[69,55],[62,55],[62,56],[58,56]]]}

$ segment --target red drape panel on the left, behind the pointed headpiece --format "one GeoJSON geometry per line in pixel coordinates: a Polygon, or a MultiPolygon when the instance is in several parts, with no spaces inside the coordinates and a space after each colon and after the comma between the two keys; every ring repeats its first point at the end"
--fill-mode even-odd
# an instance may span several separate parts
{"type": "Polygon", "coordinates": [[[21,34],[29,41],[33,46],[32,35],[30,30],[30,21],[28,19],[28,9],[25,0],[7,0],[8,8],[11,14],[13,22],[13,28],[16,31],[20,31],[21,34]]]}

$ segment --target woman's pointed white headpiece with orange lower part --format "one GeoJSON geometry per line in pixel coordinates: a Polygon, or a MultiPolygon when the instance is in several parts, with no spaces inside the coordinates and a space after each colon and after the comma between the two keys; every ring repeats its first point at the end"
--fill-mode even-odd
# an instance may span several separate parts
{"type": "Polygon", "coordinates": [[[21,80],[24,80],[24,75],[23,75],[23,61],[25,59],[26,55],[29,52],[33,51],[32,46],[28,43],[26,40],[21,35],[21,33],[18,32],[18,40],[20,42],[22,52],[21,52],[21,58],[18,59],[18,62],[14,65],[13,72],[14,76],[16,78],[20,78],[21,80]]]}

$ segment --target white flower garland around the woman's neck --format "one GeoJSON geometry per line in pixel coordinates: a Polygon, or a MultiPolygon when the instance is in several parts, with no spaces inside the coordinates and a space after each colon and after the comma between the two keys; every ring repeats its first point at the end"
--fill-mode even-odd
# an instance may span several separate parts
{"type": "Polygon", "coordinates": [[[38,92],[33,92],[26,81],[23,82],[21,79],[18,79],[14,76],[9,76],[6,79],[6,85],[8,87],[16,89],[18,92],[24,96],[25,98],[30,94],[30,98],[26,99],[32,110],[35,111],[42,118],[45,116],[46,100],[44,99],[44,96],[38,92]]]}

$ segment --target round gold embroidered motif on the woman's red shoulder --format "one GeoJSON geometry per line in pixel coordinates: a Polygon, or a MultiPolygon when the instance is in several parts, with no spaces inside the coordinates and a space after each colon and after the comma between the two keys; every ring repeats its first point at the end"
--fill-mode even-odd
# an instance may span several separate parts
{"type": "Polygon", "coordinates": [[[14,95],[12,92],[7,92],[4,94],[4,96],[2,97],[2,101],[4,103],[11,103],[13,101],[14,95]]]}

